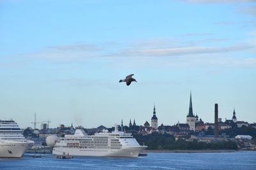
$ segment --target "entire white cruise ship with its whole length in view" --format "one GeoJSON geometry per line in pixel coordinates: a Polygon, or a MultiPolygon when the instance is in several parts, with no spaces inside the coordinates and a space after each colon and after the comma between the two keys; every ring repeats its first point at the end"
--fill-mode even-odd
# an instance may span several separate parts
{"type": "Polygon", "coordinates": [[[103,130],[88,136],[83,129],[74,135],[65,135],[55,144],[52,153],[56,156],[138,157],[147,146],[140,146],[131,134],[103,130]]]}

